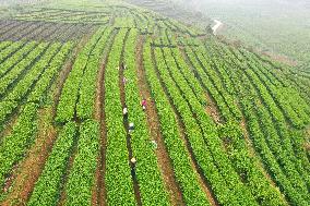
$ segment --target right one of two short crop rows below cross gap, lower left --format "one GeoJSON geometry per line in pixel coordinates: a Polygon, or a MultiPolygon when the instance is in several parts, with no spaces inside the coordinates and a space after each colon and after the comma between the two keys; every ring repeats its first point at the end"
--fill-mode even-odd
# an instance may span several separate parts
{"type": "Polygon", "coordinates": [[[99,135],[98,122],[87,120],[82,123],[78,150],[65,186],[64,205],[91,205],[99,155],[99,135]]]}

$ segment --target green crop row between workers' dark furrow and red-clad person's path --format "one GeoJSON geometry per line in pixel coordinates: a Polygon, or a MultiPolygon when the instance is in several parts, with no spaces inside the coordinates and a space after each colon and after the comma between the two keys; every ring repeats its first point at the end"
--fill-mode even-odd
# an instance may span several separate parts
{"type": "Polygon", "coordinates": [[[169,205],[167,192],[164,187],[163,177],[157,165],[155,152],[152,149],[150,131],[146,125],[146,117],[141,107],[142,97],[139,94],[138,71],[135,61],[138,31],[131,29],[124,47],[123,71],[128,83],[124,85],[126,104],[129,109],[129,122],[135,125],[131,134],[131,147],[136,158],[136,178],[140,186],[142,204],[169,205]],[[150,195],[152,193],[152,195],[150,195]]]}

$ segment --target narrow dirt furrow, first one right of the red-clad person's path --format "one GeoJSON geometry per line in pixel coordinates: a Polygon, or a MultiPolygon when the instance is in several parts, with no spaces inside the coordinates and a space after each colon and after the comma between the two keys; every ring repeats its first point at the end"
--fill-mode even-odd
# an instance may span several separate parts
{"type": "MultiPolygon", "coordinates": [[[[153,49],[152,49],[152,61],[153,61],[153,64],[155,66],[157,66],[156,60],[155,60],[155,53],[154,53],[153,49]]],[[[157,77],[158,77],[158,80],[159,80],[159,82],[162,84],[162,87],[164,88],[164,90],[166,93],[166,96],[168,97],[168,100],[169,100],[169,102],[171,105],[171,108],[172,108],[174,112],[176,113],[176,118],[177,118],[178,125],[179,125],[179,129],[180,129],[180,137],[183,141],[184,145],[187,146],[187,150],[188,150],[190,159],[191,159],[191,167],[193,168],[193,170],[194,170],[194,172],[196,174],[199,184],[200,184],[201,189],[203,190],[203,192],[206,194],[210,204],[213,205],[213,206],[217,206],[218,203],[215,199],[215,197],[213,195],[213,192],[211,190],[211,186],[207,183],[207,180],[204,177],[204,174],[202,172],[202,169],[200,168],[200,166],[199,166],[199,163],[198,163],[198,161],[196,161],[196,159],[194,157],[193,150],[192,150],[191,145],[190,145],[190,141],[189,141],[187,134],[186,134],[184,124],[183,124],[183,122],[181,120],[181,116],[177,111],[176,107],[174,106],[174,101],[172,101],[171,97],[168,95],[167,88],[166,88],[165,84],[163,83],[163,80],[160,78],[160,75],[159,75],[157,69],[156,69],[156,73],[157,73],[157,77]]]]}

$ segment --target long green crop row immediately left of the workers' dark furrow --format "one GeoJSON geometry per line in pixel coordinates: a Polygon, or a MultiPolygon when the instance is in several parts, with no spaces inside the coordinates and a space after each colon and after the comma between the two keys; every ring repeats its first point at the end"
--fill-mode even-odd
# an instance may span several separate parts
{"type": "Polygon", "coordinates": [[[126,145],[119,88],[119,58],[127,29],[120,29],[111,47],[105,74],[107,128],[106,190],[109,205],[136,205],[126,145]]]}

